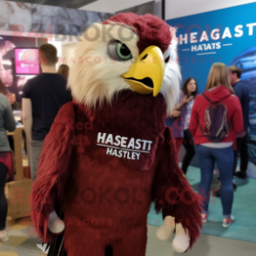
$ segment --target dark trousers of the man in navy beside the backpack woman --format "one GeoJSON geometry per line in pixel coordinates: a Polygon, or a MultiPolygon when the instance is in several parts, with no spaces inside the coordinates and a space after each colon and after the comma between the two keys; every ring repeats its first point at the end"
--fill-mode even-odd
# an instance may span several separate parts
{"type": "Polygon", "coordinates": [[[238,164],[238,155],[240,154],[240,172],[245,172],[247,170],[249,154],[247,149],[247,135],[243,138],[237,138],[237,149],[233,152],[234,164],[233,164],[233,173],[237,169],[238,164]]]}

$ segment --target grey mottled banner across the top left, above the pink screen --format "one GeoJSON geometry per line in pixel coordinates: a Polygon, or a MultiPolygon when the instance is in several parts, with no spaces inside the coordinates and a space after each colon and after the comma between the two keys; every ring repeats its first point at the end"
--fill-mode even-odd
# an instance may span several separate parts
{"type": "Polygon", "coordinates": [[[47,34],[78,36],[90,24],[100,23],[111,16],[98,11],[0,1],[0,30],[31,32],[38,37],[47,34]]]}

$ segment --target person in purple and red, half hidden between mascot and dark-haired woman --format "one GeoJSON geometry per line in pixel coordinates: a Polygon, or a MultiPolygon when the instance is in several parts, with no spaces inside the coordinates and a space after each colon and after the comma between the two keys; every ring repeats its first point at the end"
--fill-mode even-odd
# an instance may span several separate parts
{"type": "Polygon", "coordinates": [[[185,125],[185,113],[186,107],[185,104],[181,104],[184,100],[184,95],[182,91],[179,93],[179,104],[175,106],[174,110],[172,111],[172,117],[165,119],[165,125],[171,127],[172,129],[172,136],[175,141],[175,146],[177,150],[177,154],[179,156],[179,150],[183,143],[184,138],[184,125],[185,125]]]}

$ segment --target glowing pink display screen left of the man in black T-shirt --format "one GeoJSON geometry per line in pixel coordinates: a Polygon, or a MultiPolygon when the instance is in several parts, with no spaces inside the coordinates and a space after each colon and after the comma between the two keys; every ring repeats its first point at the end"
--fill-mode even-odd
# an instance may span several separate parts
{"type": "Polygon", "coordinates": [[[15,73],[17,75],[40,73],[37,48],[15,48],[15,73]]]}

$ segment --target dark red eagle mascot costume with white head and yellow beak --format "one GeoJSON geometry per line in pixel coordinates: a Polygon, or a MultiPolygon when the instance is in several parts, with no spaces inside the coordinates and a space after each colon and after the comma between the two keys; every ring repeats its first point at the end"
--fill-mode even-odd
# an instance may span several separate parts
{"type": "Polygon", "coordinates": [[[122,13],[77,43],[73,102],[44,140],[31,194],[49,255],[145,256],[152,202],[164,218],[158,239],[175,233],[184,253],[199,237],[201,200],[165,126],[179,100],[175,33],[158,17],[122,13]]]}

